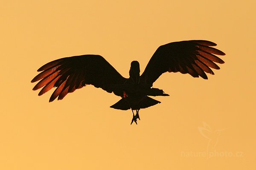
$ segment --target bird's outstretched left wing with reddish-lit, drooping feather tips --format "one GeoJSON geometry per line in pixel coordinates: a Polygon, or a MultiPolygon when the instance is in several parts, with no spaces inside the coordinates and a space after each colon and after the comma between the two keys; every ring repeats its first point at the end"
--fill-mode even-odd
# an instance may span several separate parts
{"type": "Polygon", "coordinates": [[[50,97],[52,102],[58,97],[61,100],[68,93],[72,93],[85,85],[94,85],[112,93],[112,85],[123,84],[126,79],[119,74],[111,64],[99,55],[82,55],[65,57],[43,65],[42,71],[31,82],[41,80],[33,90],[42,88],[39,96],[53,87],[57,87],[50,97]]]}

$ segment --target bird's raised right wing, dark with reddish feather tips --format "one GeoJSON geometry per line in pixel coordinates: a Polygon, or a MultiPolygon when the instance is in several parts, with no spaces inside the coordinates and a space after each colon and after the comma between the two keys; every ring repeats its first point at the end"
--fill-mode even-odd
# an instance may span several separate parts
{"type": "Polygon", "coordinates": [[[140,81],[153,85],[158,77],[167,71],[188,73],[192,77],[200,76],[207,79],[205,72],[214,74],[211,68],[220,69],[215,62],[224,63],[214,54],[225,55],[225,53],[209,47],[215,45],[217,44],[205,40],[171,42],[161,45],[149,60],[140,81]]]}

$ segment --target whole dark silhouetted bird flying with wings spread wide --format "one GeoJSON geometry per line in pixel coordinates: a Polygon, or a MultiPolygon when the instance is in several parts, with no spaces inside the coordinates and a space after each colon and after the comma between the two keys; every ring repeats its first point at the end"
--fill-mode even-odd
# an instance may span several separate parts
{"type": "Polygon", "coordinates": [[[213,48],[214,42],[207,40],[186,40],[161,45],[154,52],[146,68],[140,74],[140,63],[132,61],[129,78],[122,77],[118,71],[102,56],[86,54],[64,57],[48,62],[38,69],[39,73],[31,82],[39,81],[33,90],[40,88],[38,96],[52,88],[49,102],[63,99],[68,93],[86,85],[102,88],[108,93],[120,96],[121,99],[111,108],[129,110],[133,114],[131,124],[140,120],[140,109],[148,108],[161,102],[149,96],[169,96],[153,83],[166,72],[180,72],[192,77],[208,79],[207,74],[214,74],[211,68],[220,69],[216,63],[224,61],[216,55],[225,53],[213,48]],[[134,114],[136,111],[136,114],[134,114]]]}

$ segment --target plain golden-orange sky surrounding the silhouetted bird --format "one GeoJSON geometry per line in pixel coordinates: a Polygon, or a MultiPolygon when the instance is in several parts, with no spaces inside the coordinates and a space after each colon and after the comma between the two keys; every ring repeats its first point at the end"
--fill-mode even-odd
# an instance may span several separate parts
{"type": "Polygon", "coordinates": [[[255,0],[2,1],[0,169],[256,169],[255,8],[255,0]],[[217,43],[226,63],[209,80],[162,75],[154,87],[170,97],[154,97],[162,103],[141,110],[138,125],[131,111],[109,108],[118,96],[93,86],[52,103],[53,91],[32,91],[36,70],[54,59],[99,54],[128,77],[132,60],[143,72],[158,46],[193,39],[217,43]]]}

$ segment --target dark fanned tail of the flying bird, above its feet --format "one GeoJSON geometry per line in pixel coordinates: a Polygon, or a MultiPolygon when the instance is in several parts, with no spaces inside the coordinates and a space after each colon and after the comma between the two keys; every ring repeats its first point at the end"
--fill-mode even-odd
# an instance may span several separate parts
{"type": "Polygon", "coordinates": [[[119,110],[129,110],[132,108],[132,110],[138,110],[143,108],[148,108],[150,106],[156,105],[158,103],[161,103],[155,99],[152,99],[148,96],[143,97],[143,99],[139,100],[138,102],[129,102],[128,99],[122,98],[118,102],[116,102],[114,105],[110,106],[114,109],[119,110]]]}

